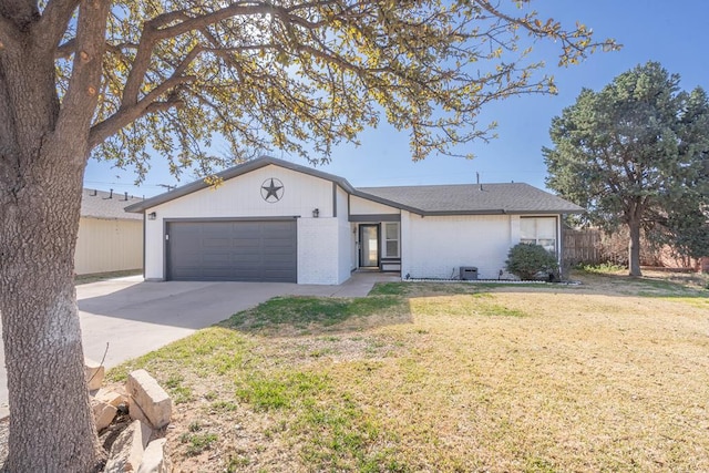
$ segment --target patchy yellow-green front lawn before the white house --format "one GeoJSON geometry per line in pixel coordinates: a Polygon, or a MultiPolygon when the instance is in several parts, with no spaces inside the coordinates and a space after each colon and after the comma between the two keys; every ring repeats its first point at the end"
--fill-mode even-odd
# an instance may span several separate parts
{"type": "Polygon", "coordinates": [[[110,376],[171,392],[176,471],[709,471],[709,291],[592,279],[277,298],[110,376]]]}

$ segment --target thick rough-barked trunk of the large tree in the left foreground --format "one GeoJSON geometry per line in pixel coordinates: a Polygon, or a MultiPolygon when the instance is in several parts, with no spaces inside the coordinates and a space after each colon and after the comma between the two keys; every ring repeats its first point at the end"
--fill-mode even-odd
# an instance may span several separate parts
{"type": "Polygon", "coordinates": [[[2,39],[12,44],[0,53],[0,312],[10,394],[6,470],[91,472],[104,453],[84,380],[73,268],[94,109],[89,103],[83,115],[60,109],[53,48],[41,48],[22,32],[29,29],[18,31],[17,38],[2,39]]]}

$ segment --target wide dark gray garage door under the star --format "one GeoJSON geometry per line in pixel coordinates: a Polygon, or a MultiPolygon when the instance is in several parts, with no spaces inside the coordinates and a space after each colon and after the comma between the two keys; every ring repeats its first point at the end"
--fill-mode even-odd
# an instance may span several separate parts
{"type": "Polygon", "coordinates": [[[296,220],[167,224],[167,279],[297,282],[296,220]]]}

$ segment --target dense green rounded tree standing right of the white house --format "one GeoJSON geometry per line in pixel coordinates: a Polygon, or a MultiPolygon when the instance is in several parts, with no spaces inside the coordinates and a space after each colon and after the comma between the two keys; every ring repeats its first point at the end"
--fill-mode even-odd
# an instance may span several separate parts
{"type": "Polygon", "coordinates": [[[587,220],[629,229],[629,273],[640,276],[640,230],[681,255],[709,254],[709,102],[656,62],[585,89],[552,121],[547,185],[587,220]]]}

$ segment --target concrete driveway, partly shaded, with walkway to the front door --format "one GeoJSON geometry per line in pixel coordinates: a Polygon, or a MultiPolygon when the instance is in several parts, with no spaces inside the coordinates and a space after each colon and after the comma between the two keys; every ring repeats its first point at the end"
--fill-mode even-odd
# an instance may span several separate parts
{"type": "MultiPolygon", "coordinates": [[[[105,352],[104,364],[111,368],[275,296],[363,297],[379,280],[400,279],[363,273],[340,286],[315,286],[144,282],[134,276],[76,286],[84,354],[101,361],[105,352]]],[[[8,413],[4,351],[0,350],[0,419],[8,413]]]]}

